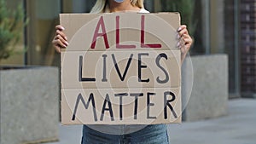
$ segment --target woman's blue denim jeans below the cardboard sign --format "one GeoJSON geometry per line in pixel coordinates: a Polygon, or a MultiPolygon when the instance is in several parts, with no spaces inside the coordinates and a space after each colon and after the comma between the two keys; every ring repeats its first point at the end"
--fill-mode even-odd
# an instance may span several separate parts
{"type": "Polygon", "coordinates": [[[166,124],[154,124],[154,125],[148,125],[148,126],[146,125],[116,125],[116,126],[84,125],[83,127],[83,138],[82,138],[81,144],[130,144],[130,143],[131,144],[169,144],[166,124]],[[99,130],[102,132],[99,132],[99,130]]]}

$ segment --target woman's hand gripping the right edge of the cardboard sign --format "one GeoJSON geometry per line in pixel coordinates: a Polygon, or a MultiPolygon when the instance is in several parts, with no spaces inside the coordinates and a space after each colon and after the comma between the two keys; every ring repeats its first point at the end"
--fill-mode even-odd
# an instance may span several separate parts
{"type": "Polygon", "coordinates": [[[189,49],[193,43],[192,38],[189,36],[189,32],[187,30],[187,26],[182,25],[177,29],[179,42],[177,43],[177,47],[181,49],[181,60],[185,59],[189,49]]]}

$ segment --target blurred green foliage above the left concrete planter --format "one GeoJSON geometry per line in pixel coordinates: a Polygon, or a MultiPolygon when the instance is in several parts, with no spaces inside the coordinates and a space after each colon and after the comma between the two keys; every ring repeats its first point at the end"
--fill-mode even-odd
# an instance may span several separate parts
{"type": "Polygon", "coordinates": [[[0,0],[0,60],[15,54],[15,46],[25,26],[24,17],[21,4],[15,10],[10,10],[5,0],[0,0]]]}

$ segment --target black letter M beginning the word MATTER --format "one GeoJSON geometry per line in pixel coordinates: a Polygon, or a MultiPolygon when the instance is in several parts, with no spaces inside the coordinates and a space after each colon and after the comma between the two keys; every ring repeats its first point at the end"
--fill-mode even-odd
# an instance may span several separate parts
{"type": "Polygon", "coordinates": [[[75,108],[74,108],[74,111],[73,111],[72,120],[74,121],[75,118],[76,118],[76,113],[77,113],[78,107],[79,107],[79,101],[82,101],[82,103],[83,103],[85,109],[88,109],[89,104],[90,104],[90,101],[91,101],[91,105],[92,105],[92,108],[93,108],[93,114],[94,114],[94,120],[97,121],[95,101],[94,101],[94,96],[93,96],[92,93],[90,94],[90,96],[89,96],[88,101],[87,101],[86,104],[85,104],[85,101],[84,101],[83,96],[82,96],[81,94],[78,95],[78,98],[77,98],[77,101],[76,101],[76,105],[75,105],[75,108]]]}

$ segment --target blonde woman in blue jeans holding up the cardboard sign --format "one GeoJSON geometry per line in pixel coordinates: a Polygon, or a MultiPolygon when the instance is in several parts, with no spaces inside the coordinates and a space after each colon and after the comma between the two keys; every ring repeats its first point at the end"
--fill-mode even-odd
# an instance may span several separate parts
{"type": "MultiPolygon", "coordinates": [[[[138,13],[149,13],[146,9],[143,9],[143,0],[97,0],[90,13],[113,13],[120,11],[133,11],[138,13]]],[[[64,27],[55,26],[56,33],[54,40],[52,41],[57,52],[61,52],[61,49],[67,48],[67,37],[64,33],[64,27]]],[[[192,44],[192,38],[189,36],[189,32],[186,26],[180,26],[177,29],[177,35],[180,38],[177,47],[181,49],[182,61],[184,60],[187,52],[192,44]]],[[[110,133],[102,133],[96,129],[90,129],[88,126],[83,127],[82,144],[96,144],[96,143],[139,143],[139,144],[168,144],[168,136],[165,124],[155,124],[141,127],[141,130],[137,129],[138,125],[119,125],[119,126],[95,126],[90,128],[117,130],[118,135],[110,133]],[[117,127],[121,129],[116,129],[117,127]],[[127,130],[131,131],[127,132],[127,130]]]]}

